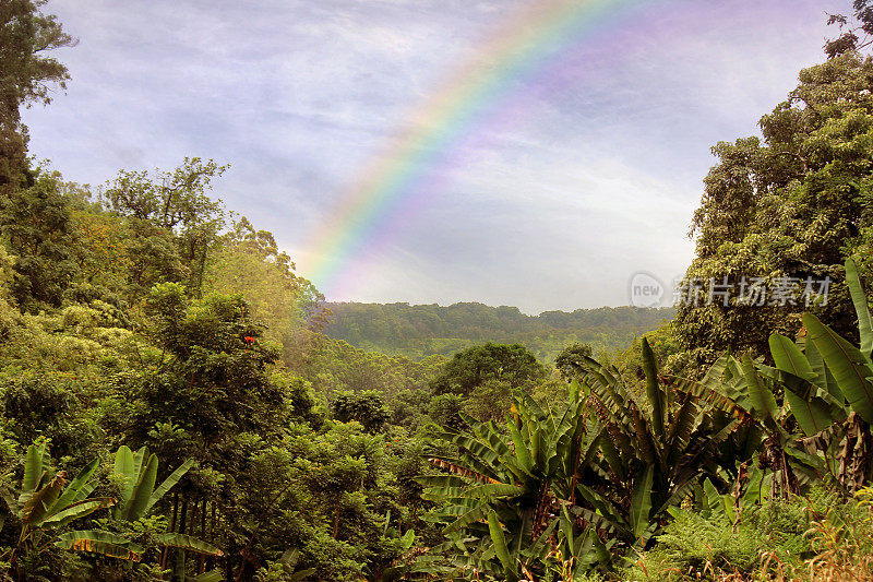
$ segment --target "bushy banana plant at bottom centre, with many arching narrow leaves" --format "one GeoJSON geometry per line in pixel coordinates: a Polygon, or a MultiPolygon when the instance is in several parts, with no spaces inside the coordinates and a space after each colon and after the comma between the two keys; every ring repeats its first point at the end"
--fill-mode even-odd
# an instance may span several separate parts
{"type": "MultiPolygon", "coordinates": [[[[446,542],[419,559],[416,570],[440,577],[478,572],[499,580],[539,575],[553,554],[552,533],[566,551],[595,551],[596,543],[575,532],[575,518],[558,530],[561,508],[572,504],[581,468],[596,454],[600,433],[586,430],[577,384],[563,412],[543,408],[529,396],[515,400],[505,426],[464,420],[468,432],[445,430],[438,439],[454,454],[431,453],[445,473],[420,477],[422,497],[436,503],[429,519],[444,526],[446,542]]],[[[597,543],[602,546],[600,539],[597,543]]],[[[607,554],[607,551],[603,551],[607,554]]],[[[579,560],[582,561],[582,560],[579,560]]],[[[597,557],[586,563],[596,562],[597,557]]]]}

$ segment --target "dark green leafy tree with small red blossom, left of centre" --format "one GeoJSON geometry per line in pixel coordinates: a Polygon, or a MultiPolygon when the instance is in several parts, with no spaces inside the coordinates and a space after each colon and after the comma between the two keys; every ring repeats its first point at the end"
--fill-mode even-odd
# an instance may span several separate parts
{"type": "MultiPolygon", "coordinates": [[[[175,500],[176,533],[205,530],[207,504],[237,508],[244,499],[244,467],[280,432],[288,406],[268,366],[278,349],[263,342],[263,326],[251,319],[241,296],[189,299],[182,285],[156,286],[150,296],[152,340],[163,349],[132,387],[133,414],[127,433],[162,459],[192,470],[175,500]],[[201,515],[194,522],[192,514],[201,515]]],[[[241,527],[244,508],[228,511],[229,530],[241,527]]],[[[227,568],[243,543],[223,536],[227,568]]],[[[244,543],[243,543],[244,545],[244,543]]]]}

